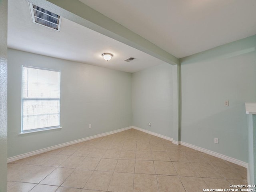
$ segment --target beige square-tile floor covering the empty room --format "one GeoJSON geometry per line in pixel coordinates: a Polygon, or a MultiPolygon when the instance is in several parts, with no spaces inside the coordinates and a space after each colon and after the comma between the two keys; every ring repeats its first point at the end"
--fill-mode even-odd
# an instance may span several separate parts
{"type": "Polygon", "coordinates": [[[200,192],[246,168],[130,129],[8,164],[8,192],[200,192]]]}

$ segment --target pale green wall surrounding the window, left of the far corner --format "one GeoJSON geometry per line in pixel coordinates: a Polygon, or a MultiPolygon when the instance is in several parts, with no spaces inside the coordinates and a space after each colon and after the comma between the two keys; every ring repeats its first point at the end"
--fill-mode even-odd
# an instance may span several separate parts
{"type": "Polygon", "coordinates": [[[131,73],[8,49],[8,157],[128,126],[131,73]],[[62,129],[18,135],[22,65],[61,71],[62,129]]]}

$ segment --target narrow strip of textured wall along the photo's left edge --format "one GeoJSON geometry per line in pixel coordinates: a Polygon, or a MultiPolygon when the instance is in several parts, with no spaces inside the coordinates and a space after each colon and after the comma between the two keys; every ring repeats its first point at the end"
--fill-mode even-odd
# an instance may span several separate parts
{"type": "Polygon", "coordinates": [[[7,0],[0,0],[0,192],[7,187],[7,0]]]}

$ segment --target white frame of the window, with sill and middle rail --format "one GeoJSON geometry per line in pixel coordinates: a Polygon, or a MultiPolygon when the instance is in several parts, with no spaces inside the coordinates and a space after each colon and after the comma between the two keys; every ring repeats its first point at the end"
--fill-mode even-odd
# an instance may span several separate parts
{"type": "Polygon", "coordinates": [[[40,132],[40,131],[45,131],[45,130],[53,130],[53,129],[60,129],[62,128],[60,126],[60,115],[61,115],[61,110],[60,110],[60,97],[59,98],[23,98],[23,69],[25,68],[33,68],[33,69],[39,69],[39,70],[46,70],[46,71],[54,71],[54,72],[59,72],[59,82],[60,82],[60,86],[59,86],[59,90],[60,90],[60,95],[61,95],[61,72],[60,70],[53,70],[53,69],[48,69],[48,68],[39,68],[39,67],[34,67],[34,66],[26,66],[26,65],[22,65],[22,80],[21,80],[21,132],[20,134],[26,134],[26,133],[32,133],[32,132],[40,132]],[[34,129],[29,129],[29,130],[23,130],[23,105],[24,105],[24,101],[26,100],[58,100],[59,101],[59,118],[58,118],[58,125],[57,126],[50,126],[50,127],[43,127],[43,128],[34,128],[34,129]]]}

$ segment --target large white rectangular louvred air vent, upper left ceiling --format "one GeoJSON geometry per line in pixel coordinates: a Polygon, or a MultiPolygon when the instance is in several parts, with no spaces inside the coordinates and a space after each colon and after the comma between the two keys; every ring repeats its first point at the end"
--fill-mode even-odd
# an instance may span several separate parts
{"type": "Polygon", "coordinates": [[[29,3],[32,20],[34,23],[60,31],[61,16],[29,3]]]}

